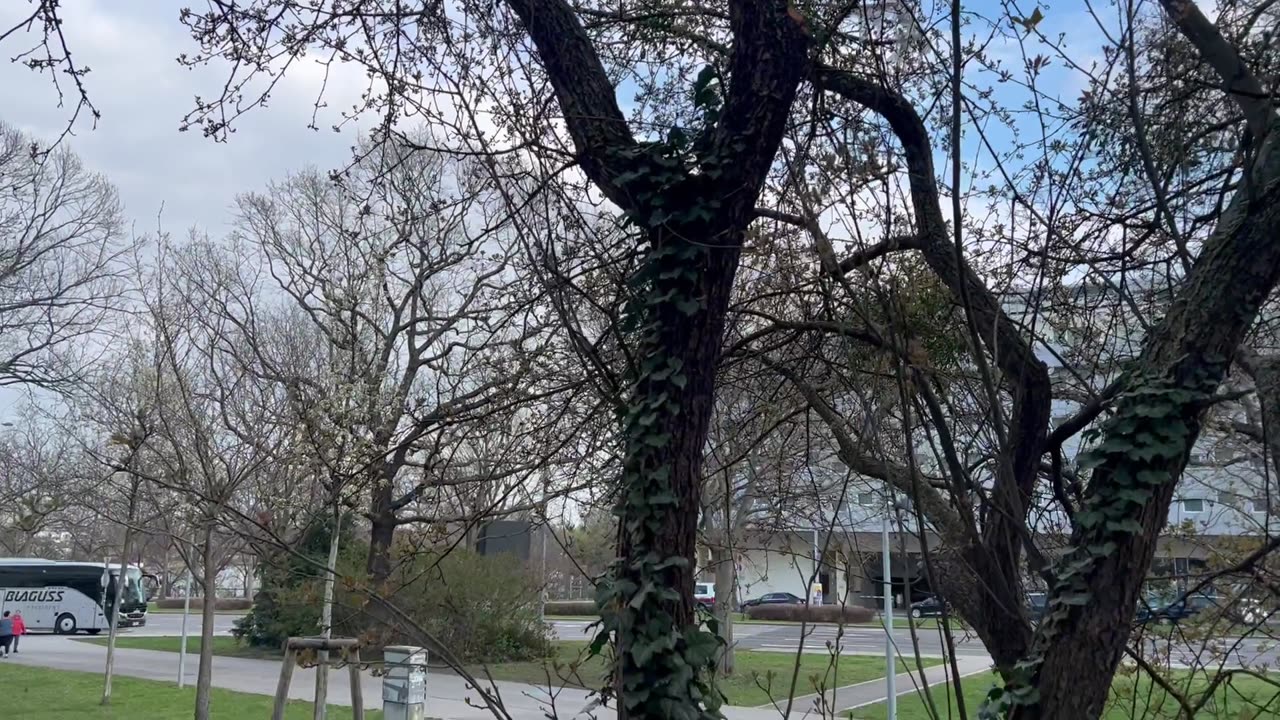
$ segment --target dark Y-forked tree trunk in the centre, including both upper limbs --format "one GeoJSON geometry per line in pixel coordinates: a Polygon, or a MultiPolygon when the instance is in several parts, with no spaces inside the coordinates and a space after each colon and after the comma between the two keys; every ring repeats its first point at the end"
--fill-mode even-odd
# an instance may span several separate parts
{"type": "MultiPolygon", "coordinates": [[[[628,316],[640,322],[623,418],[620,559],[600,593],[617,638],[618,720],[705,715],[691,643],[701,464],[724,313],[755,201],[786,131],[810,36],[777,0],[731,3],[723,104],[696,167],[637,143],[577,13],[564,0],[507,0],[538,47],[582,170],[649,233],[628,316]],[[672,647],[675,646],[675,647],[672,647]]],[[[669,150],[669,149],[668,149],[669,150]]],[[[707,659],[712,660],[712,659],[707,659]]]]}

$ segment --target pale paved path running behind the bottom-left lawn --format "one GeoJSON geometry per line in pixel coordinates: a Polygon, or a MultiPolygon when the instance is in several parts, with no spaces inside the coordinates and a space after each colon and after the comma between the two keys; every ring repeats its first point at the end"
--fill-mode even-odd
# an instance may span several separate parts
{"type": "MultiPolygon", "coordinates": [[[[58,635],[28,635],[22,641],[22,653],[5,662],[19,662],[58,670],[79,670],[101,673],[106,661],[106,648],[93,643],[76,642],[58,635]]],[[[196,684],[197,656],[187,656],[184,676],[191,685],[196,684]]],[[[154,650],[115,651],[115,673],[146,680],[175,683],[178,680],[178,656],[173,652],[154,650]]],[[[214,687],[243,693],[274,696],[280,676],[280,662],[271,660],[251,660],[243,657],[214,657],[214,687]]],[[[481,680],[483,682],[483,680],[481,680]]],[[[381,707],[381,678],[365,671],[361,675],[361,691],[365,707],[381,707]]],[[[448,673],[431,671],[426,680],[426,716],[439,720],[493,720],[494,714],[483,707],[483,701],[466,680],[448,673]]],[[[506,707],[512,720],[545,720],[548,716],[562,720],[596,717],[608,720],[613,710],[594,708],[589,714],[591,698],[586,691],[576,688],[547,688],[522,683],[493,683],[493,691],[506,707]]],[[[296,667],[289,685],[293,700],[312,701],[315,692],[315,669],[296,667]]],[[[351,705],[351,680],[346,669],[329,673],[330,705],[351,705]]],[[[724,708],[727,720],[769,720],[777,719],[776,710],[750,707],[724,708]]]]}

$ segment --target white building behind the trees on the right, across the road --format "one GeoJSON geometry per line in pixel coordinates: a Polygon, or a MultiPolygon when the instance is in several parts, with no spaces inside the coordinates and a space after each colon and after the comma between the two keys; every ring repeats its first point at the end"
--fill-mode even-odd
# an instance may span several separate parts
{"type": "MultiPolygon", "coordinates": [[[[1105,295],[1112,290],[1102,286],[1075,286],[1066,292],[1073,307],[1088,305],[1089,293],[1105,295]],[[1074,293],[1074,295],[1073,295],[1074,293]]],[[[1158,299],[1142,299],[1158,305],[1158,299]]],[[[1059,387],[1080,389],[1080,378],[1071,375],[1062,359],[1070,361],[1070,350],[1084,347],[1091,357],[1115,361],[1115,366],[1139,351],[1140,337],[1115,333],[1108,340],[1087,338],[1075,342],[1073,333],[1087,333],[1098,318],[1084,319],[1074,325],[1073,316],[1046,319],[1052,309],[1037,304],[1033,313],[1027,310],[1025,297],[1009,296],[1005,310],[1024,327],[1034,327],[1037,356],[1050,368],[1050,375],[1059,387]],[[1066,342],[1068,340],[1073,342],[1066,342]]],[[[1114,379],[1114,372],[1096,372],[1089,382],[1093,391],[1114,379]]],[[[1055,396],[1069,396],[1055,392],[1055,396]]],[[[1078,392],[1076,395],[1084,395],[1078,392]]],[[[1051,424],[1071,418],[1079,404],[1056,398],[1051,407],[1051,424]]],[[[1219,409],[1219,413],[1229,410],[1219,409]]],[[[1243,413],[1242,413],[1243,414],[1243,413]]],[[[1236,418],[1243,419],[1243,418],[1236,418]]],[[[1082,434],[1062,446],[1064,464],[1075,465],[1082,450],[1082,434]]],[[[916,457],[922,468],[936,466],[931,451],[922,448],[916,457]]],[[[975,460],[975,459],[970,459],[975,460]]],[[[828,469],[833,477],[844,470],[828,469]]],[[[1274,482],[1272,482],[1274,484],[1274,482]]],[[[1153,577],[1185,582],[1197,568],[1203,568],[1217,548],[1233,539],[1263,534],[1268,523],[1275,523],[1275,509],[1280,505],[1267,491],[1267,475],[1260,448],[1230,430],[1207,427],[1192,452],[1190,462],[1179,482],[1178,495],[1169,510],[1167,532],[1160,539],[1152,566],[1153,577]],[[1270,498],[1270,500],[1268,500],[1270,498]]],[[[822,602],[878,605],[882,579],[881,530],[886,516],[883,488],[877,482],[854,478],[847,487],[832,483],[826,497],[795,503],[767,525],[753,524],[740,533],[733,555],[737,566],[737,600],[759,597],[771,592],[788,592],[800,597],[813,594],[813,584],[822,588],[822,602]],[[833,500],[832,496],[841,496],[833,500]],[[808,507],[805,507],[808,505],[808,507]],[[837,507],[838,505],[838,507],[837,507]]],[[[1030,519],[1032,527],[1051,544],[1055,537],[1070,532],[1066,515],[1050,501],[1050,488],[1043,488],[1047,512],[1030,519]]],[[[906,596],[927,592],[923,573],[919,533],[911,512],[891,520],[890,557],[892,583],[899,603],[906,596]]],[[[932,538],[932,533],[927,534],[932,538]]],[[[933,541],[931,541],[932,543],[933,541]]],[[[1050,550],[1052,552],[1052,550],[1050,550]]],[[[708,553],[709,560],[709,553],[708,553]]],[[[705,579],[712,573],[704,573],[705,579]]]]}

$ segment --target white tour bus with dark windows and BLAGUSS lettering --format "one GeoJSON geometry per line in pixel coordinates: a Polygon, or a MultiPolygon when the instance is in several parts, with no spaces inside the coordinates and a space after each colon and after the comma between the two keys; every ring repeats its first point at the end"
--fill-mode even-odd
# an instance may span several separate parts
{"type": "MultiPolygon", "coordinates": [[[[35,557],[0,559],[0,612],[22,612],[28,630],[92,635],[108,625],[115,598],[118,564],[56,562],[35,557]]],[[[142,570],[128,566],[120,592],[120,626],[145,625],[147,597],[142,570]]]]}

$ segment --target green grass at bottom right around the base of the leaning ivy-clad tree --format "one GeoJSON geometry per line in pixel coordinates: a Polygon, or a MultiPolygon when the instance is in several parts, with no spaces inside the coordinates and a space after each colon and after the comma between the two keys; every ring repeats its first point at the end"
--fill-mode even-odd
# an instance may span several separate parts
{"type": "MultiPolygon", "coordinates": [[[[1189,673],[1172,673],[1171,679],[1180,693],[1189,700],[1198,701],[1203,697],[1208,680],[1201,674],[1192,678],[1189,673]]],[[[973,675],[961,683],[965,697],[965,710],[969,717],[977,716],[977,708],[987,696],[987,691],[996,682],[995,675],[973,675]]],[[[1276,678],[1280,683],[1280,678],[1276,678]]],[[[951,716],[955,717],[955,698],[947,697],[946,687],[932,688],[933,701],[937,703],[938,714],[947,716],[947,701],[951,705],[951,716]]],[[[1117,675],[1111,685],[1111,700],[1103,720],[1130,720],[1142,717],[1143,720],[1172,720],[1180,719],[1178,702],[1165,693],[1158,685],[1146,675],[1117,675]]],[[[873,705],[852,711],[850,717],[855,720],[882,720],[884,706],[873,705]]],[[[1204,705],[1196,717],[1204,720],[1262,720],[1263,717],[1280,716],[1280,685],[1271,684],[1263,679],[1248,675],[1236,675],[1229,687],[1220,687],[1213,693],[1213,698],[1204,705]]],[[[899,720],[933,720],[929,715],[924,698],[919,694],[902,696],[897,698],[899,720]]]]}

